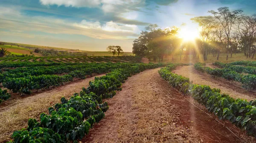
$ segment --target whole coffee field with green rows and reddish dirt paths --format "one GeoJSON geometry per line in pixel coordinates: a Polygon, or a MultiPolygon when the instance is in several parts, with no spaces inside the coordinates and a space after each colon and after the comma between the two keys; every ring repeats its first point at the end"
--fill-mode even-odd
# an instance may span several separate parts
{"type": "Polygon", "coordinates": [[[256,62],[222,56],[1,58],[0,142],[256,143],[256,62]]]}

